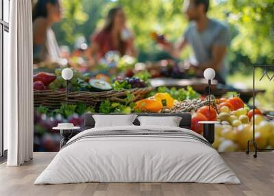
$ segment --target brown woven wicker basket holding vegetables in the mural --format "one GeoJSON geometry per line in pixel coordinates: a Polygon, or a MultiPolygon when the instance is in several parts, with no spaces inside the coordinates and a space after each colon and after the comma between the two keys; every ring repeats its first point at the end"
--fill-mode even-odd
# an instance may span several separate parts
{"type": "MultiPolygon", "coordinates": [[[[147,93],[150,93],[154,88],[133,88],[129,89],[129,93],[135,95],[133,101],[142,99],[147,93]]],[[[66,100],[66,92],[53,90],[34,90],[34,107],[46,106],[50,109],[58,109],[61,103],[77,104],[85,103],[86,106],[96,107],[101,101],[109,99],[110,101],[125,102],[127,90],[109,90],[103,92],[86,92],[79,91],[69,93],[66,100]]]]}

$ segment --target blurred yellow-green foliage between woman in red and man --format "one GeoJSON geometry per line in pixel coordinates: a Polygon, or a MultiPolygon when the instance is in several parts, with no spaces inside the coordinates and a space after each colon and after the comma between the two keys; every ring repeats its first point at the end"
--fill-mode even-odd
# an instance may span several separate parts
{"type": "Polygon", "coordinates": [[[181,0],[119,0],[117,4],[123,5],[140,50],[154,49],[149,36],[151,32],[160,32],[169,40],[177,40],[187,25],[181,12],[181,0]]]}

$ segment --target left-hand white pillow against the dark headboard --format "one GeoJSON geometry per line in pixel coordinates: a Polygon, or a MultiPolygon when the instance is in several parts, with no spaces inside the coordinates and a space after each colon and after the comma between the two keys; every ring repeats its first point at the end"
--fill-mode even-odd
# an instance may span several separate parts
{"type": "Polygon", "coordinates": [[[136,114],[127,115],[92,115],[95,119],[95,127],[117,127],[134,125],[133,122],[136,119],[136,114]]]}

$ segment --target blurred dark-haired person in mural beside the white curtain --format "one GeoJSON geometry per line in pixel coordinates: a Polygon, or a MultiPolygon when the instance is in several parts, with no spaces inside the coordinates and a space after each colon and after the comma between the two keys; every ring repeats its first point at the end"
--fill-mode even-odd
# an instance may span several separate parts
{"type": "Polygon", "coordinates": [[[60,48],[51,26],[61,21],[60,2],[38,0],[32,12],[34,62],[58,62],[60,48]]]}

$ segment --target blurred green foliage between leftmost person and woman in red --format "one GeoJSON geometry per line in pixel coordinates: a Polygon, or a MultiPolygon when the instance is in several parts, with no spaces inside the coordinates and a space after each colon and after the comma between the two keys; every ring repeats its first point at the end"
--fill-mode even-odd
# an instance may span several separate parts
{"type": "Polygon", "coordinates": [[[103,18],[103,9],[108,0],[63,0],[62,21],[53,26],[59,45],[73,47],[75,38],[84,36],[89,42],[92,34],[103,18]]]}

